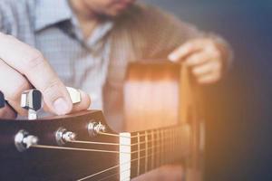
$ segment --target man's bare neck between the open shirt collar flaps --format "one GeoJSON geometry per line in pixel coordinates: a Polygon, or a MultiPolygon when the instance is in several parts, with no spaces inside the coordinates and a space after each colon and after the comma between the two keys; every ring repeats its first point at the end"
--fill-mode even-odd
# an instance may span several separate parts
{"type": "Polygon", "coordinates": [[[92,10],[88,9],[86,5],[83,5],[83,1],[70,0],[70,5],[78,19],[83,37],[85,39],[90,37],[97,24],[99,24],[100,18],[92,10]]]}

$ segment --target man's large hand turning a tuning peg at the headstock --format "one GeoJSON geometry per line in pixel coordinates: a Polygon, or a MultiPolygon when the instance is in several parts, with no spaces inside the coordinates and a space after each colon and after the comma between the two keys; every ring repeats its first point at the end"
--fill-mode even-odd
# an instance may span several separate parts
{"type": "Polygon", "coordinates": [[[0,110],[0,118],[15,118],[16,113],[26,115],[26,110],[20,107],[21,93],[33,87],[42,91],[44,109],[55,114],[86,110],[90,106],[90,98],[83,91],[82,102],[73,106],[63,82],[41,52],[0,33],[0,90],[8,102],[0,110]]]}

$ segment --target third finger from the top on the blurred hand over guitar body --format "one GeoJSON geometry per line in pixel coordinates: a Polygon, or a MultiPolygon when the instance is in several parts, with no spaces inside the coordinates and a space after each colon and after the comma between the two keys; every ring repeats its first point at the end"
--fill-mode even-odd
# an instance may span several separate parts
{"type": "Polygon", "coordinates": [[[205,75],[220,71],[220,63],[218,61],[207,62],[202,65],[193,67],[192,73],[195,76],[205,75]]]}

